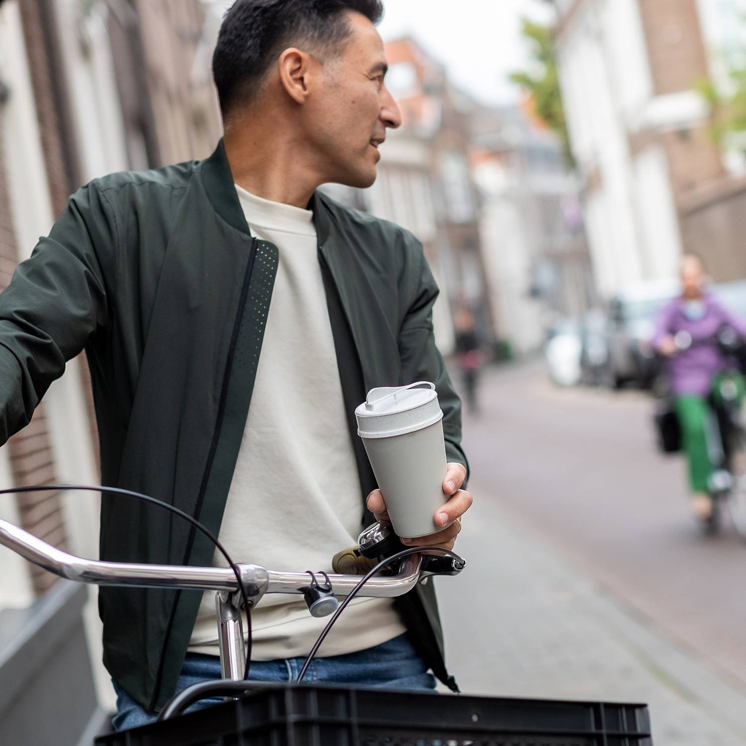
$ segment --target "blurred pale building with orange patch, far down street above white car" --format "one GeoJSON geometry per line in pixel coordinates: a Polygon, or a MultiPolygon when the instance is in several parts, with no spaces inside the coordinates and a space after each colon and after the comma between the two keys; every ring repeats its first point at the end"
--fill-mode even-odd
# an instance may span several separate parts
{"type": "Polygon", "coordinates": [[[471,169],[498,335],[518,355],[595,302],[578,184],[557,139],[522,106],[475,107],[471,169]]]}

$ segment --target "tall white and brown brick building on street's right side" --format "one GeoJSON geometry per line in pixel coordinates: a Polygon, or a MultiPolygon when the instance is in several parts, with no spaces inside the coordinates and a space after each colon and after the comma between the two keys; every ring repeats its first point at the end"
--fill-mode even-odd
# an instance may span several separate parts
{"type": "Polygon", "coordinates": [[[555,0],[557,57],[601,292],[671,278],[694,251],[746,276],[746,181],[709,136],[695,86],[721,74],[739,0],[555,0]],[[719,25],[718,25],[718,21],[719,25]]]}

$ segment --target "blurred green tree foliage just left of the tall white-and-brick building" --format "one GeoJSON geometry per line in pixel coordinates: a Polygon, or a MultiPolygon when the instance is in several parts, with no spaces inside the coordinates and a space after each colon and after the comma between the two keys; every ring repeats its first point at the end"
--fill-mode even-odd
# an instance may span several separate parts
{"type": "Polygon", "coordinates": [[[536,116],[560,138],[565,162],[571,167],[573,158],[565,109],[562,106],[557,54],[554,50],[551,26],[523,18],[521,34],[531,45],[533,69],[515,71],[510,74],[510,80],[530,93],[536,116]]]}

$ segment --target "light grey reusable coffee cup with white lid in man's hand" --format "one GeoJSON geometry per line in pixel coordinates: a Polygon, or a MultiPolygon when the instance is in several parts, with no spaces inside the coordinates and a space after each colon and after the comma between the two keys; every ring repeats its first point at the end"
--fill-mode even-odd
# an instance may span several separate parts
{"type": "Polygon", "coordinates": [[[448,501],[443,492],[448,466],[435,384],[371,389],[355,416],[397,535],[414,538],[442,530],[434,518],[448,501]]]}

